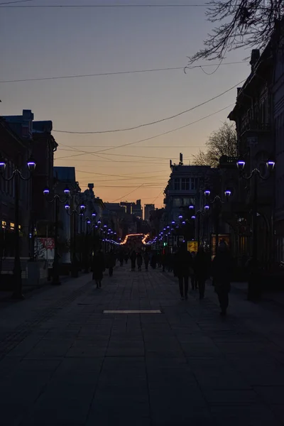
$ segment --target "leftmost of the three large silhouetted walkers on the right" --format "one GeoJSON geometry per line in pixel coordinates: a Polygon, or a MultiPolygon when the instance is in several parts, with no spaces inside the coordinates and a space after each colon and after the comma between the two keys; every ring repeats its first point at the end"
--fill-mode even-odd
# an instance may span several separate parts
{"type": "Polygon", "coordinates": [[[187,247],[183,244],[175,255],[175,274],[178,276],[180,286],[180,297],[187,299],[188,281],[192,274],[192,256],[187,247]]]}

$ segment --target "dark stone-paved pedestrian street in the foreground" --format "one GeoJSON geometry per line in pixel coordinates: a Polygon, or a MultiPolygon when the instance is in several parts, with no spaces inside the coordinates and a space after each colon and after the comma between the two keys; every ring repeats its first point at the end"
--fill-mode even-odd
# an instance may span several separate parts
{"type": "Polygon", "coordinates": [[[0,306],[1,426],[284,424],[284,311],[115,268],[0,306]],[[161,310],[161,314],[104,314],[161,310]]]}

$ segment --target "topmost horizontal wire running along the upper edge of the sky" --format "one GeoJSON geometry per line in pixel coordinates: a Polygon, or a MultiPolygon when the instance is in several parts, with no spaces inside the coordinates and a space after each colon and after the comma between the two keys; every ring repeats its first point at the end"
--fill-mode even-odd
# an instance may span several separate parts
{"type": "MultiPolygon", "coordinates": [[[[30,0],[22,0],[30,1],[30,0]]],[[[10,2],[9,2],[10,3],[10,2]]],[[[6,3],[6,4],[9,4],[6,3]]],[[[17,1],[11,1],[17,3],[17,1]]],[[[18,1],[21,3],[21,1],[18,1]]],[[[5,4],[5,3],[4,3],[5,4]]],[[[97,8],[97,9],[134,9],[134,8],[186,8],[186,7],[208,7],[208,4],[43,4],[43,5],[28,5],[28,6],[2,6],[6,9],[82,9],[82,8],[97,8]]]]}

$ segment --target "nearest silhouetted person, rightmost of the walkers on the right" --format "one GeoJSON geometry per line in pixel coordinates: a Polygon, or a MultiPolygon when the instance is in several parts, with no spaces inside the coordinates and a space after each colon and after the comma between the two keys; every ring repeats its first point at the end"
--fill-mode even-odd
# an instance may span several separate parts
{"type": "Polygon", "coordinates": [[[231,273],[233,260],[225,241],[221,241],[217,255],[212,262],[212,278],[215,292],[221,307],[221,315],[226,315],[229,305],[229,291],[231,290],[231,273]]]}

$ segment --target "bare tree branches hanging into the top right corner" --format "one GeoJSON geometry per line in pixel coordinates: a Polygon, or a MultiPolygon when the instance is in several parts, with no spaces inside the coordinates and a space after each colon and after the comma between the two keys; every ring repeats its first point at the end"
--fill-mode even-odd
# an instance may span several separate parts
{"type": "Polygon", "coordinates": [[[279,23],[284,16],[284,0],[212,0],[207,20],[217,24],[204,40],[204,49],[189,58],[223,60],[226,52],[239,48],[263,50],[273,35],[280,45],[283,32],[279,23]]]}

